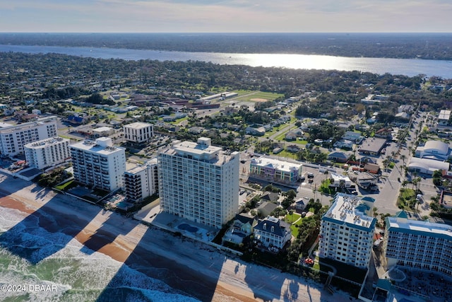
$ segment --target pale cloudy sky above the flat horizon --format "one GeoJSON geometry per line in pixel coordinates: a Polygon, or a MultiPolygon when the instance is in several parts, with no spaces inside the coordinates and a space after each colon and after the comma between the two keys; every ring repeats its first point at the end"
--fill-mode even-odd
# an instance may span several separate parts
{"type": "Polygon", "coordinates": [[[451,0],[0,0],[6,33],[452,33],[451,0]]]}

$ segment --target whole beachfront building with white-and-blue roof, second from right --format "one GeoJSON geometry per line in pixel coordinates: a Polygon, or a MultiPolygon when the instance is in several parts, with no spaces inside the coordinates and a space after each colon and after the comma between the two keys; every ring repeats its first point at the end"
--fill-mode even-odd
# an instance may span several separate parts
{"type": "Polygon", "coordinates": [[[337,193],[321,218],[319,257],[369,267],[376,219],[368,216],[374,199],[337,193]]]}

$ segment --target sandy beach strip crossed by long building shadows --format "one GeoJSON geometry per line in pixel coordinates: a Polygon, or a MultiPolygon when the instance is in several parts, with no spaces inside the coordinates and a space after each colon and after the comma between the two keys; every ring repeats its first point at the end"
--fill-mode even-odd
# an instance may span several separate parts
{"type": "MultiPolygon", "coordinates": [[[[321,284],[225,255],[100,207],[0,173],[0,206],[201,301],[350,301],[321,284]],[[151,269],[152,268],[152,269],[151,269]]],[[[355,300],[355,299],[352,299],[355,300]]]]}

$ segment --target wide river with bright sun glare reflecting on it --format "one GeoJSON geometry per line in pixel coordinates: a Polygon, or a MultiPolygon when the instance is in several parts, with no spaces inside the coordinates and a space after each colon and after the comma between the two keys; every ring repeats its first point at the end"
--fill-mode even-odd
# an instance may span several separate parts
{"type": "Polygon", "coordinates": [[[440,76],[452,79],[452,61],[425,59],[388,59],[367,57],[333,57],[315,54],[237,54],[217,52],[169,52],[114,48],[0,45],[0,52],[59,53],[100,59],[152,59],[158,61],[202,61],[215,64],[283,67],[289,69],[326,69],[364,71],[373,74],[405,76],[440,76]]]}

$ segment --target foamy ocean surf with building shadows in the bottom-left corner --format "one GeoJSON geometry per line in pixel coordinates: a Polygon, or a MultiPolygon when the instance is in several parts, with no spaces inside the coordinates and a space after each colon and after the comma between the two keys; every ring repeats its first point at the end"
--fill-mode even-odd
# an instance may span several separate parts
{"type": "Polygon", "coordinates": [[[23,218],[0,207],[0,301],[198,301],[23,218]]]}

